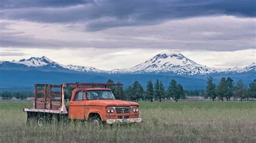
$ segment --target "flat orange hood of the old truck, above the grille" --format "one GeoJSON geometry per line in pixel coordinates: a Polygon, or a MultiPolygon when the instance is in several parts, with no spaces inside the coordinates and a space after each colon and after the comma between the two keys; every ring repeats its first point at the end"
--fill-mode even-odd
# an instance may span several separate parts
{"type": "Polygon", "coordinates": [[[98,99],[87,101],[86,105],[100,105],[100,106],[116,106],[116,107],[127,107],[127,106],[139,106],[136,102],[120,101],[116,99],[98,99]]]}

